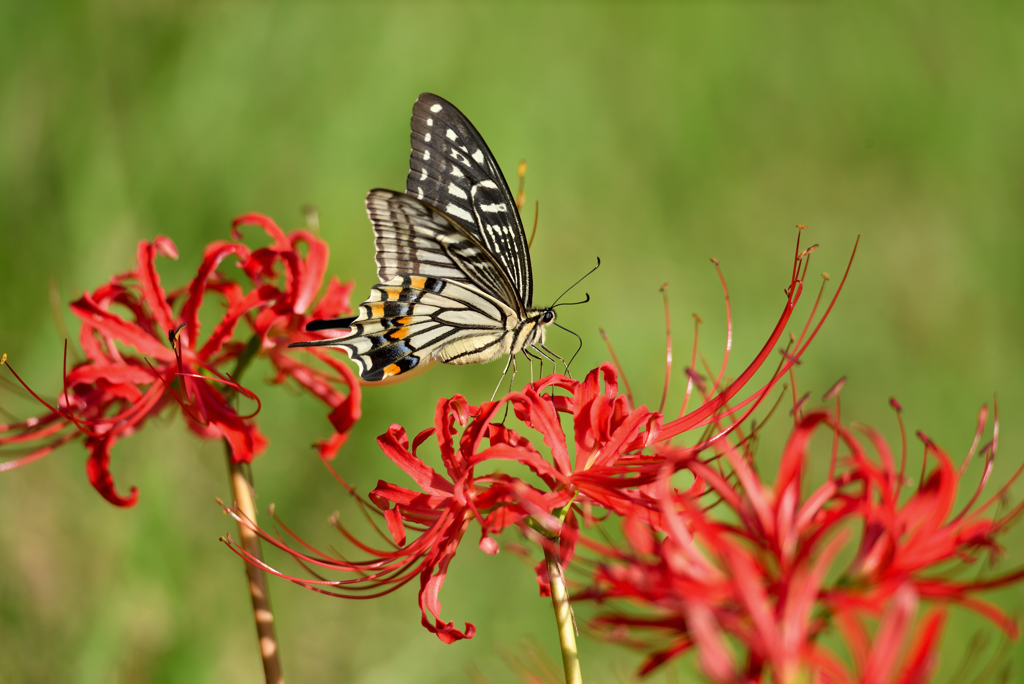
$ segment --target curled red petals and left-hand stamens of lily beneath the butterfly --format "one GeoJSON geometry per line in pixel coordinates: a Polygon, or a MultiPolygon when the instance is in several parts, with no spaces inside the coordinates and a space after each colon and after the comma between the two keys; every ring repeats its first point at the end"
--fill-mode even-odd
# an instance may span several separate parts
{"type": "MultiPolygon", "coordinates": [[[[513,392],[500,401],[481,407],[470,405],[462,396],[437,403],[434,427],[416,435],[412,444],[406,430],[393,425],[378,438],[384,454],[413,480],[411,488],[380,481],[370,494],[370,502],[386,527],[390,544],[383,549],[360,542],[344,526],[339,529],[370,558],[348,561],[334,554],[319,553],[299,542],[290,547],[285,542],[255,527],[268,543],[286,550],[303,564],[319,569],[351,573],[350,579],[322,580],[293,578],[262,565],[268,571],[309,589],[349,598],[368,598],[394,591],[415,578],[420,581],[420,607],[423,625],[446,643],[471,638],[472,624],[458,629],[440,618],[439,592],[449,563],[469,525],[476,521],[481,530],[480,548],[497,553],[494,535],[510,525],[526,528],[527,519],[539,520],[550,537],[558,537],[561,552],[571,558],[578,519],[571,510],[564,520],[551,515],[588,497],[598,503],[618,505],[616,487],[632,486],[618,482],[613,463],[625,452],[640,450],[656,434],[659,416],[645,408],[630,410],[625,396],[617,394],[616,372],[605,365],[580,382],[563,376],[551,376],[513,392]],[[604,380],[603,387],[601,380],[604,380]],[[562,392],[544,392],[557,387],[562,392]],[[539,431],[551,452],[542,455],[530,441],[516,431],[495,421],[505,403],[528,427],[539,431]],[[573,418],[575,458],[561,429],[559,414],[573,418]],[[444,472],[428,466],[417,454],[431,437],[440,451],[444,472]],[[487,461],[516,461],[537,476],[539,484],[501,472],[477,474],[487,461]],[[597,484],[602,478],[606,487],[597,484]],[[416,538],[409,539],[414,531],[416,538]],[[369,595],[368,595],[369,592],[369,595]]],[[[238,516],[238,513],[234,512],[238,516]]],[[[251,521],[240,520],[251,525],[251,521]]],[[[287,527],[286,527],[287,529],[287,527]]],[[[232,548],[252,562],[244,549],[232,548]]],[[[541,563],[541,567],[543,567],[541,563]]]]}

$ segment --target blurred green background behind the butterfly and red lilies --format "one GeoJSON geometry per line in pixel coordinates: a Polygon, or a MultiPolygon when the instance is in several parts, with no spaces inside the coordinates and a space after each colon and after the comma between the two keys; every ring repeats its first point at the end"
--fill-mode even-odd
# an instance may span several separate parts
{"type": "MultiPolygon", "coordinates": [[[[1022,86],[1024,6],[1013,2],[2,3],[0,351],[54,396],[51,288],[74,335],[68,301],[132,267],[139,240],[174,240],[180,260],[160,266],[175,286],[232,217],[259,211],[295,227],[306,203],[331,272],[354,279],[359,301],[374,282],[362,199],[403,187],[410,112],[430,90],[469,116],[507,174],[528,161],[538,303],[601,257],[583,288],[593,301],[560,314],[586,340],[581,373],[606,358],[604,327],[638,398],[656,405],[666,282],[677,369],[691,312],[717,362],[712,256],[730,284],[738,372],[780,311],[794,225],[809,226],[806,244],[821,245],[811,272],[833,283],[860,234],[801,388],[817,400],[846,376],[844,415],[891,437],[895,395],[909,427],[957,459],[996,392],[1004,481],[1024,459],[1022,86]]],[[[557,331],[549,340],[575,348],[557,331]]],[[[336,466],[362,491],[379,477],[403,482],[376,435],[427,427],[438,396],[488,397],[500,371],[436,369],[367,390],[336,466]]],[[[670,407],[681,380],[677,370],[670,407]]],[[[7,411],[38,413],[0,392],[7,411]]],[[[328,429],[325,411],[294,392],[261,396],[271,446],[254,466],[259,504],[333,543],[326,518],[342,491],[308,446],[328,429]]],[[[778,445],[764,440],[764,463],[778,445]]],[[[122,442],[113,470],[121,490],[140,489],[132,510],[100,499],[83,462],[75,446],[0,475],[0,682],[258,681],[243,569],[217,542],[233,530],[214,504],[229,498],[221,446],[176,419],[122,442]]],[[[441,599],[446,619],[479,632],[453,646],[419,626],[415,587],[345,602],[272,582],[288,679],[479,671],[514,682],[503,653],[524,640],[555,657],[527,564],[484,556],[476,535],[441,599]]],[[[1001,568],[1024,559],[1021,529],[1006,541],[1001,568]]],[[[1024,608],[1020,589],[991,598],[1024,608]]],[[[946,676],[978,629],[955,614],[946,676]]],[[[586,637],[583,654],[593,682],[630,681],[639,659],[586,637]]],[[[1010,660],[1024,681],[1024,655],[1010,660]]],[[[690,673],[683,664],[654,681],[690,673]]]]}

